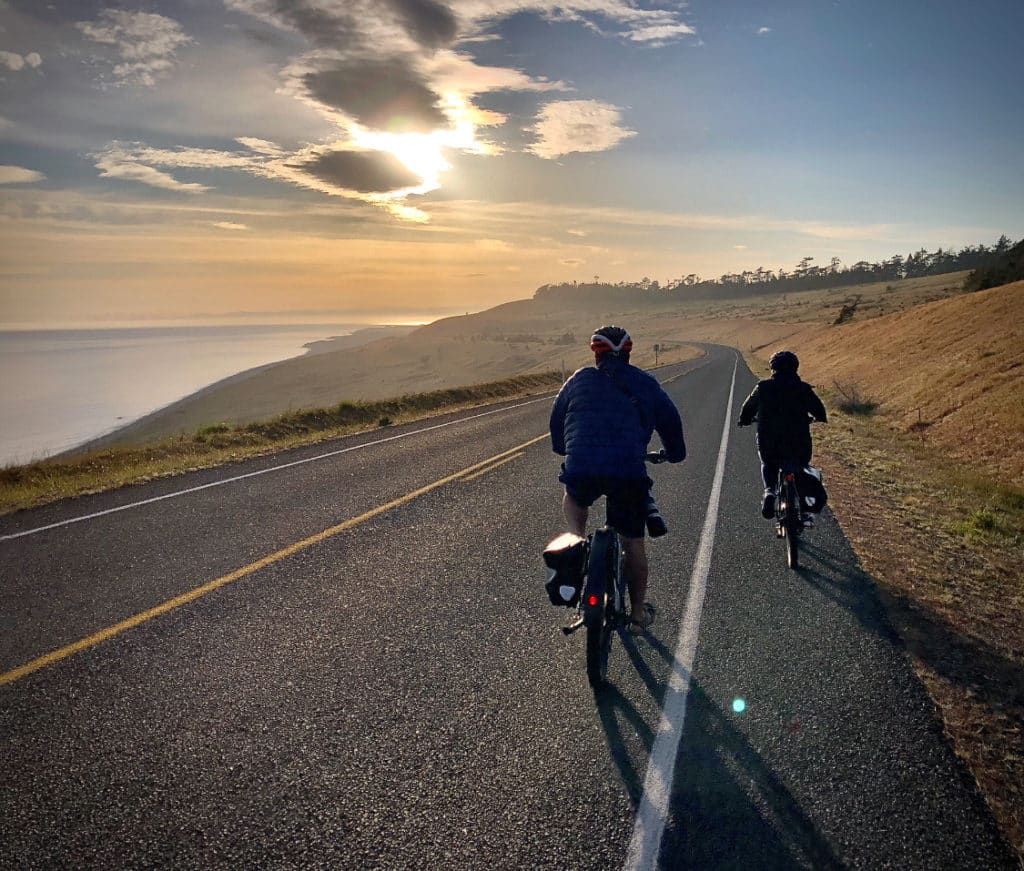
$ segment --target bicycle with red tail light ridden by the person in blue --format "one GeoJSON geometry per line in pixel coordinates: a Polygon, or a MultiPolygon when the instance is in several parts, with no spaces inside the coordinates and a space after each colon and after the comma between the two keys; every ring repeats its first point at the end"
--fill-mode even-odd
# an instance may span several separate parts
{"type": "MultiPolygon", "coordinates": [[[[645,460],[665,463],[665,451],[647,453],[645,460]]],[[[587,681],[597,692],[608,678],[608,656],[615,633],[630,622],[629,585],[623,573],[623,548],[618,533],[605,524],[591,532],[586,541],[586,575],[577,618],[562,627],[565,635],[587,629],[587,681]]]]}

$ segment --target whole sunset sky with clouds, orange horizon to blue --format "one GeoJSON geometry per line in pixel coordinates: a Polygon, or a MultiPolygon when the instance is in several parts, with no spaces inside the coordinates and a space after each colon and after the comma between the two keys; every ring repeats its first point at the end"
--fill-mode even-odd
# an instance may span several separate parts
{"type": "Polygon", "coordinates": [[[1024,236],[1021,0],[0,0],[0,328],[1024,236]]]}

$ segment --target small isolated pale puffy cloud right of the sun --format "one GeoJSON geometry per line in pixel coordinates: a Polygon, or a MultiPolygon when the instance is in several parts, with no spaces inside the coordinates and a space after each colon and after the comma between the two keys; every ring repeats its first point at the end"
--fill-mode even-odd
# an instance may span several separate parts
{"type": "Polygon", "coordinates": [[[606,151],[636,135],[621,121],[618,108],[600,100],[549,102],[529,128],[537,141],[527,150],[548,160],[573,151],[606,151]]]}

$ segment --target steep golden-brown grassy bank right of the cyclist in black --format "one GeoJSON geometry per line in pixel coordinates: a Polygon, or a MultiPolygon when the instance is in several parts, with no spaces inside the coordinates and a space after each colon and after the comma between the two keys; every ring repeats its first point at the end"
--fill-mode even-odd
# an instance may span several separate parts
{"type": "Polygon", "coordinates": [[[806,369],[903,432],[1024,486],[1024,281],[807,336],[806,369]]]}

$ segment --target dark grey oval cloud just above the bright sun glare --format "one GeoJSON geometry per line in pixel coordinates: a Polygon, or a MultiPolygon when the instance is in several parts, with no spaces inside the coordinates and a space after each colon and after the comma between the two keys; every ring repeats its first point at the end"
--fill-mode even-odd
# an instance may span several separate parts
{"type": "Polygon", "coordinates": [[[447,126],[437,94],[399,61],[347,62],[302,81],[315,100],[374,130],[425,133],[447,126]]]}

